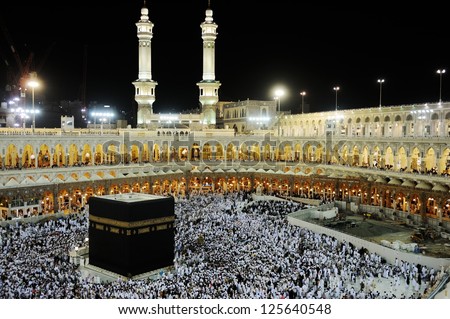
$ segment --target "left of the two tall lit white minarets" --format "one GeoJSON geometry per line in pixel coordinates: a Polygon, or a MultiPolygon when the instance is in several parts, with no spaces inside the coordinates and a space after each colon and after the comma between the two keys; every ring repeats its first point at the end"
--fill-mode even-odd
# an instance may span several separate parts
{"type": "Polygon", "coordinates": [[[153,23],[148,19],[148,9],[145,4],[141,9],[141,19],[136,23],[139,39],[139,75],[133,82],[134,99],[138,104],[137,125],[145,127],[153,113],[155,88],[158,84],[152,80],[152,50],[153,23]]]}

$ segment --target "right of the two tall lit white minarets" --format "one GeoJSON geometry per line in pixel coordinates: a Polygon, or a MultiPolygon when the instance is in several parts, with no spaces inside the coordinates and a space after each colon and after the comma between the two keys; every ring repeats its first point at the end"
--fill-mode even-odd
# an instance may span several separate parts
{"type": "Polygon", "coordinates": [[[202,28],[203,39],[203,78],[197,85],[200,89],[200,103],[202,103],[203,124],[216,124],[216,105],[219,101],[220,82],[216,81],[215,68],[215,40],[217,38],[217,24],[212,17],[211,4],[208,0],[205,22],[202,28]]]}

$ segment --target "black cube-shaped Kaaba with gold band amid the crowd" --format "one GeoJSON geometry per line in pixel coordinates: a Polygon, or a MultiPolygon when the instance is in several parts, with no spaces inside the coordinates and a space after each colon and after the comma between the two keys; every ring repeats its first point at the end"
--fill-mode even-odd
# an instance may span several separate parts
{"type": "Polygon", "coordinates": [[[174,198],[116,194],[89,198],[89,264],[133,277],[173,265],[174,198]]]}

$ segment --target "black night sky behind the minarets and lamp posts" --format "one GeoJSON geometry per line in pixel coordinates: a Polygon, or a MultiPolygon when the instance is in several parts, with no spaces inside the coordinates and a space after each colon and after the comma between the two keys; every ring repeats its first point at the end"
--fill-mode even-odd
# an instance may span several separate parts
{"type": "MultiPolygon", "coordinates": [[[[143,1],[59,3],[46,6],[45,1],[9,1],[0,5],[3,23],[21,58],[25,60],[34,52],[36,68],[44,60],[38,75],[46,97],[81,97],[87,48],[87,101],[132,110],[131,82],[138,75],[135,23],[143,1]]],[[[420,2],[420,6],[408,2],[401,7],[377,1],[360,3],[212,0],[218,24],[216,80],[222,83],[220,100],[271,100],[274,87],[280,84],[287,91],[282,109],[298,113],[299,93],[305,90],[305,103],[311,111],[332,110],[333,87],[339,86],[340,108],[373,107],[379,103],[377,79],[384,78],[384,105],[438,101],[436,70],[450,67],[445,49],[449,42],[448,11],[443,2],[420,2]]],[[[207,5],[207,0],[147,0],[155,25],[155,112],[198,106],[200,24],[207,5]]],[[[3,34],[0,50],[14,65],[3,34]]],[[[4,63],[0,72],[3,87],[4,63]]],[[[450,95],[446,76],[442,82],[444,101],[450,95]]]]}

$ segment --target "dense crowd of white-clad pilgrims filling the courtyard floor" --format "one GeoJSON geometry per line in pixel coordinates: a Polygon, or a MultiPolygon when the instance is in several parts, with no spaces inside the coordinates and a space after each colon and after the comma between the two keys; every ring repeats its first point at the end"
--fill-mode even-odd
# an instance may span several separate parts
{"type": "Polygon", "coordinates": [[[434,269],[379,255],[287,222],[292,201],[248,193],[176,199],[173,271],[99,283],[68,252],[88,212],[0,228],[0,298],[422,298],[434,269]],[[382,284],[384,282],[384,284],[382,284]],[[386,287],[389,287],[388,289],[386,287]]]}

